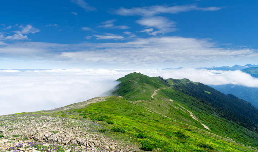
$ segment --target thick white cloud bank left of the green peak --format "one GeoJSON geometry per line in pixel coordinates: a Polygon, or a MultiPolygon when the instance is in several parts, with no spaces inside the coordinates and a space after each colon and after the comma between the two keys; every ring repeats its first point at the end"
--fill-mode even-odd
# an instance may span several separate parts
{"type": "Polygon", "coordinates": [[[118,84],[112,75],[105,69],[1,74],[0,115],[54,109],[108,95],[118,84]]]}

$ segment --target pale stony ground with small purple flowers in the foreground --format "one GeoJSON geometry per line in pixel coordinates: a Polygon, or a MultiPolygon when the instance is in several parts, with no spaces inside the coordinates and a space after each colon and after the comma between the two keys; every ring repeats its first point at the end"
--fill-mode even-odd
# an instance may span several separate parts
{"type": "Polygon", "coordinates": [[[141,151],[130,137],[100,133],[101,122],[49,115],[0,116],[0,151],[141,151]],[[126,144],[125,144],[126,143],[126,144]]]}

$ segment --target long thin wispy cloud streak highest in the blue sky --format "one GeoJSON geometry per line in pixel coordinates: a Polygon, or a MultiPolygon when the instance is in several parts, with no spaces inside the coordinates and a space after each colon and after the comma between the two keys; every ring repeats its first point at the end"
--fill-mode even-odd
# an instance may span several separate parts
{"type": "Polygon", "coordinates": [[[176,14],[179,12],[188,11],[217,11],[223,7],[197,7],[197,5],[176,5],[176,6],[165,6],[165,5],[155,5],[149,7],[134,7],[131,9],[126,9],[121,7],[117,9],[116,13],[121,16],[154,16],[162,13],[172,13],[176,14]]]}

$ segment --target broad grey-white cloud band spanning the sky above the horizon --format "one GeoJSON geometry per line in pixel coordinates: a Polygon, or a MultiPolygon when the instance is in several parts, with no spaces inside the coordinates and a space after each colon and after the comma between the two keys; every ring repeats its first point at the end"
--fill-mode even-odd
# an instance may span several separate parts
{"type": "MultiPolygon", "coordinates": [[[[125,39],[121,35],[109,33],[94,36],[97,39],[125,39]]],[[[220,48],[209,39],[163,36],[119,43],[17,42],[0,46],[0,56],[13,60],[35,60],[42,64],[48,61],[67,63],[72,67],[83,63],[84,66],[90,64],[109,68],[166,68],[256,63],[258,51],[249,48],[220,48]]]]}

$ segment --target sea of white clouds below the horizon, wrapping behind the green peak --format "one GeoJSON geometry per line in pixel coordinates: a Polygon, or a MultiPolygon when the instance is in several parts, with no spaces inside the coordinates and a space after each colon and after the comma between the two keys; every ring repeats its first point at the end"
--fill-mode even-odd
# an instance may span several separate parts
{"type": "Polygon", "coordinates": [[[111,95],[115,81],[132,72],[163,78],[188,78],[207,85],[258,87],[258,79],[242,71],[195,68],[175,70],[52,69],[0,70],[0,115],[48,110],[111,95]],[[111,90],[111,91],[110,91],[111,90]]]}

